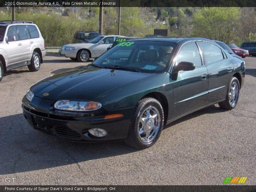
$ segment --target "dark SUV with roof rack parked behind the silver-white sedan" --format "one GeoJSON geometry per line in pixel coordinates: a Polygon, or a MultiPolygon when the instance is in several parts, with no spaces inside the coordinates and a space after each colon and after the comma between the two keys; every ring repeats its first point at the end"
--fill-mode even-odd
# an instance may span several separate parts
{"type": "Polygon", "coordinates": [[[101,33],[96,31],[77,31],[74,35],[73,43],[88,43],[98,36],[101,36],[101,33]]]}

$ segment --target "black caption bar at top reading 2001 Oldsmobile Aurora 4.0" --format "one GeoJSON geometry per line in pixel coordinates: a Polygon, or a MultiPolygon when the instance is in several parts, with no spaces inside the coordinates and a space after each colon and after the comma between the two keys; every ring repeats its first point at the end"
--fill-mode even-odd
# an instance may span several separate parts
{"type": "Polygon", "coordinates": [[[256,0],[0,0],[1,7],[256,7],[256,0]]]}

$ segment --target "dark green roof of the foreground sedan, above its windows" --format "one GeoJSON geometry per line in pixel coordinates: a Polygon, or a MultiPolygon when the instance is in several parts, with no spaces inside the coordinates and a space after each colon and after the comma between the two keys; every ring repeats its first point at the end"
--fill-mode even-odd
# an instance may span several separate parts
{"type": "Polygon", "coordinates": [[[213,42],[211,39],[201,37],[153,37],[153,38],[140,38],[134,39],[134,41],[158,41],[158,42],[170,42],[170,43],[184,43],[187,41],[203,40],[213,42]]]}

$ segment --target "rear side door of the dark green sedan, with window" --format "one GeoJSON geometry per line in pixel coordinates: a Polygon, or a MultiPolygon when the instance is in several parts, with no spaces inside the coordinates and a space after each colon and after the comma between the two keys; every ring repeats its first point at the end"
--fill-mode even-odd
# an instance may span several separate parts
{"type": "Polygon", "coordinates": [[[217,45],[199,41],[208,70],[208,98],[206,104],[225,99],[228,83],[234,71],[231,59],[217,45]]]}

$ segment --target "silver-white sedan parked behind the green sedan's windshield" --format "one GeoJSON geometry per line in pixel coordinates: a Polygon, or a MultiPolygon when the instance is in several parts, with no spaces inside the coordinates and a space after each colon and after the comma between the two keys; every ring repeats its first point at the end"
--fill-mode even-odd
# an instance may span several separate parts
{"type": "Polygon", "coordinates": [[[88,43],[77,43],[63,45],[59,50],[59,55],[69,57],[72,60],[87,62],[90,58],[99,57],[107,51],[107,48],[113,44],[120,35],[98,36],[88,43]]]}

